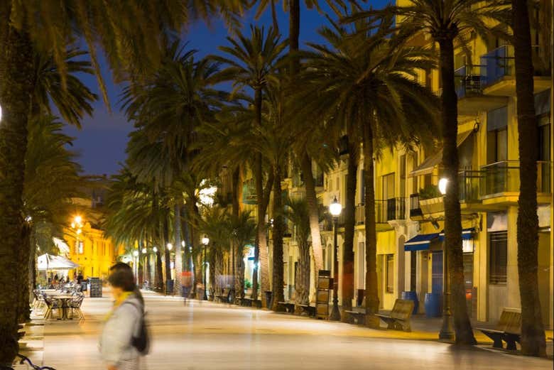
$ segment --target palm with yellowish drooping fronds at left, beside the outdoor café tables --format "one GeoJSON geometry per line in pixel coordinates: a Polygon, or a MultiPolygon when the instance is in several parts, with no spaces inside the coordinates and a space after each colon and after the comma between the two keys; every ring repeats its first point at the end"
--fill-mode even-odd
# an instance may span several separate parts
{"type": "Polygon", "coordinates": [[[74,161],[77,154],[66,148],[72,144],[72,138],[62,134],[62,128],[63,124],[53,116],[36,116],[29,125],[23,190],[28,240],[20,249],[17,287],[20,322],[30,318],[29,293],[33,287],[31,274],[35,268],[38,231],[50,236],[49,244],[52,236],[62,234],[71,199],[80,195],[78,189],[84,183],[79,176],[81,167],[74,161]]]}

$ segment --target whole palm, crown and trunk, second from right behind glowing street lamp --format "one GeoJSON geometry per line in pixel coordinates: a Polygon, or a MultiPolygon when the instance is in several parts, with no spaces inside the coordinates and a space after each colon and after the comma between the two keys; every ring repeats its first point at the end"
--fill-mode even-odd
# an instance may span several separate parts
{"type": "MultiPolygon", "coordinates": [[[[462,219],[457,153],[457,96],[454,76],[455,43],[466,45],[468,33],[480,35],[496,32],[487,27],[487,19],[498,19],[505,13],[505,1],[479,0],[413,0],[408,6],[387,6],[381,11],[360,12],[350,19],[364,18],[372,14],[397,16],[398,31],[408,40],[420,35],[430,35],[438,44],[438,64],[442,95],[440,97],[440,121],[442,131],[442,168],[448,187],[445,195],[445,253],[450,276],[452,308],[457,344],[476,344],[465,303],[464,271],[462,255],[462,219]]],[[[467,50],[467,48],[465,49],[467,50]]],[[[445,295],[445,300],[448,295],[445,295]]]]}

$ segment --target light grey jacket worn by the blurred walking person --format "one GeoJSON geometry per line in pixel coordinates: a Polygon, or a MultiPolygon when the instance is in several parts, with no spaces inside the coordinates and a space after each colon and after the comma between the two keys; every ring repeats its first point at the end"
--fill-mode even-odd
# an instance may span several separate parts
{"type": "Polygon", "coordinates": [[[105,322],[99,343],[100,354],[105,364],[123,367],[126,362],[139,359],[140,354],[131,341],[139,335],[142,307],[140,300],[131,295],[105,322]]]}

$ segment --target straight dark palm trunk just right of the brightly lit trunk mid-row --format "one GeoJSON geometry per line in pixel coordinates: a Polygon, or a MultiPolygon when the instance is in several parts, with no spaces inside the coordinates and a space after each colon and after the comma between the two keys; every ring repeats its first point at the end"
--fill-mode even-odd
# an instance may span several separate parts
{"type": "Polygon", "coordinates": [[[285,300],[283,292],[283,234],[285,223],[283,222],[283,191],[281,190],[281,168],[273,167],[273,302],[271,310],[284,311],[279,304],[285,300]]]}

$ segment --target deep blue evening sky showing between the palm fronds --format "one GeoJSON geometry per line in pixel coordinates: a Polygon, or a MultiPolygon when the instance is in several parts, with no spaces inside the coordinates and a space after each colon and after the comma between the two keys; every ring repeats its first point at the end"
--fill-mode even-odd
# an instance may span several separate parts
{"type": "MultiPolygon", "coordinates": [[[[371,6],[380,8],[386,4],[384,0],[370,1],[371,6]]],[[[317,29],[327,25],[327,19],[322,13],[315,9],[308,10],[301,1],[300,10],[300,48],[306,42],[320,43],[321,38],[317,34],[317,29]]],[[[323,11],[327,11],[323,7],[323,11]]],[[[281,1],[277,4],[279,31],[284,38],[288,35],[288,14],[283,12],[281,1]]],[[[253,14],[245,17],[244,28],[250,23],[256,23],[259,26],[271,26],[271,11],[266,11],[264,15],[255,21],[253,14]]],[[[203,57],[218,53],[217,46],[227,45],[227,28],[221,21],[214,20],[210,26],[204,22],[198,21],[188,29],[183,40],[188,41],[189,48],[197,49],[197,55],[203,57]]],[[[102,63],[105,65],[105,63],[102,63]]],[[[77,130],[74,127],[67,127],[65,132],[75,137],[72,149],[80,152],[79,161],[82,164],[86,174],[102,175],[114,174],[119,169],[119,163],[125,160],[125,146],[129,132],[133,129],[132,124],[126,121],[124,114],[119,110],[117,102],[119,101],[120,87],[112,83],[112,78],[107,67],[103,69],[104,78],[107,82],[109,101],[112,106],[112,112],[109,113],[102,99],[94,104],[94,115],[87,117],[82,123],[82,129],[77,130]]],[[[85,83],[99,94],[95,77],[86,76],[85,83]]]]}

